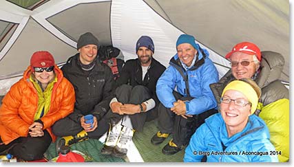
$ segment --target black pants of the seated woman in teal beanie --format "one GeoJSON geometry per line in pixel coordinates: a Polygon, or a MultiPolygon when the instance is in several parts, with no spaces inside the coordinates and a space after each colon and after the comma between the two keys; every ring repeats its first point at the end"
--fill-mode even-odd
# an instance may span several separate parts
{"type": "MultiPolygon", "coordinates": [[[[176,100],[191,100],[191,98],[183,97],[176,91],[173,94],[176,100]]],[[[193,118],[188,117],[185,119],[160,103],[158,108],[158,129],[161,133],[172,133],[173,142],[177,146],[185,146],[189,143],[191,135],[204,123],[204,120],[217,112],[216,109],[211,109],[199,115],[193,115],[193,118]]]]}

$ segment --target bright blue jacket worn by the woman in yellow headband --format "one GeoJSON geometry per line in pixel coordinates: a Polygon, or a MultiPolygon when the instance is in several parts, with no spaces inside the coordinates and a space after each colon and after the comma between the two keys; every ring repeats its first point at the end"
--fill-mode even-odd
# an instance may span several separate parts
{"type": "Polygon", "coordinates": [[[250,115],[243,131],[227,137],[220,113],[211,115],[193,134],[185,150],[184,162],[278,162],[269,141],[269,129],[256,115],[250,115]]]}

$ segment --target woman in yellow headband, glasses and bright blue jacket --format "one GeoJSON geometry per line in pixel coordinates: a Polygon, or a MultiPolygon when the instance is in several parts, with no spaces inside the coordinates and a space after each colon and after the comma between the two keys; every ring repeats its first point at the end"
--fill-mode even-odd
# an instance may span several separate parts
{"type": "Polygon", "coordinates": [[[261,90],[250,78],[233,80],[222,91],[220,113],[193,134],[184,162],[278,162],[264,121],[254,115],[261,90]]]}

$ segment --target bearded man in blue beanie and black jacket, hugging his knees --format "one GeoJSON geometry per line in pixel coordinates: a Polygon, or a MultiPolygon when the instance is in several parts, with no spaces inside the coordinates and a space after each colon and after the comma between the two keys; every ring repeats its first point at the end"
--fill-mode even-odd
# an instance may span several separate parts
{"type": "Polygon", "coordinates": [[[127,60],[116,80],[116,98],[110,102],[110,128],[101,153],[124,157],[134,131],[142,131],[146,121],[157,118],[159,100],[156,82],[165,66],[153,58],[154,43],[141,36],[136,43],[138,58],[127,60]]]}

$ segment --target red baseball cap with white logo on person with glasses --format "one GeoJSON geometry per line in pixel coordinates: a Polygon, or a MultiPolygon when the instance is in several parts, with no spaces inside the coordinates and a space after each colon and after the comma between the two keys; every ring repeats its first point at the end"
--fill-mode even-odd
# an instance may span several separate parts
{"type": "Polygon", "coordinates": [[[256,55],[258,60],[262,60],[262,54],[260,54],[260,48],[254,43],[242,42],[235,45],[229,54],[225,56],[225,58],[230,58],[231,55],[235,52],[242,52],[244,54],[256,55]]]}

